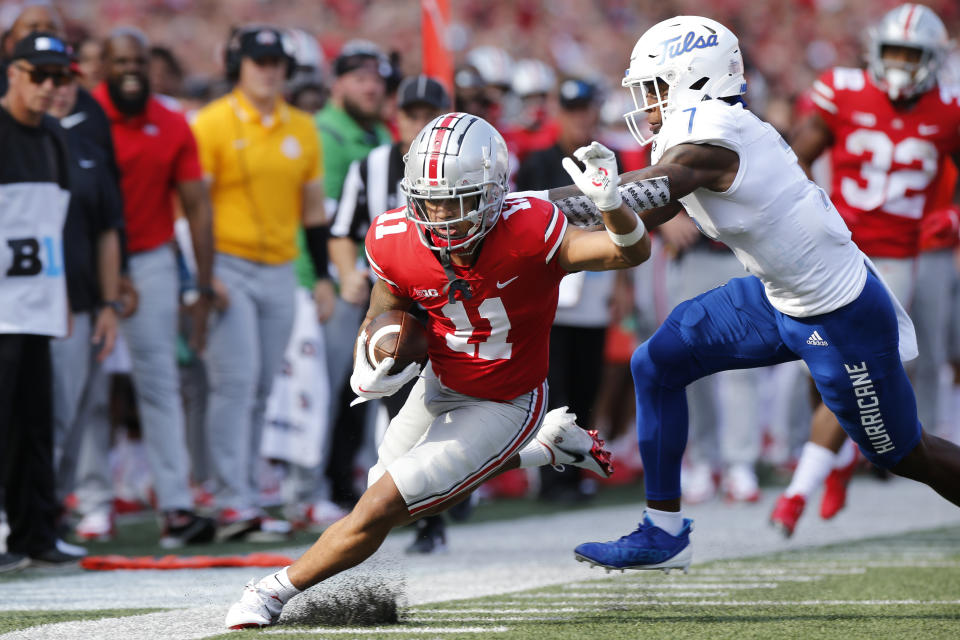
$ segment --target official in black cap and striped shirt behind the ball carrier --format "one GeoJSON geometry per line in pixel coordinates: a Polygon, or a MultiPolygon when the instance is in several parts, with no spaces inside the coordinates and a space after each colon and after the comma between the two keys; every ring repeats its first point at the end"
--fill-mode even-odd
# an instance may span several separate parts
{"type": "MultiPolygon", "coordinates": [[[[340,277],[340,296],[345,302],[366,306],[370,274],[357,269],[357,246],[367,235],[375,217],[403,204],[399,192],[403,156],[420,130],[450,110],[450,96],[443,85],[425,75],[405,78],[397,89],[397,130],[400,139],[384,144],[350,165],[343,184],[337,215],[330,229],[330,258],[340,277]]],[[[414,313],[417,309],[413,310],[414,313]]],[[[426,321],[426,318],[422,318],[426,321]]],[[[412,383],[411,383],[412,386],[412,383]]],[[[400,411],[405,393],[384,399],[391,418],[400,411]]],[[[314,509],[313,513],[319,510],[314,509]]],[[[324,523],[316,523],[324,524],[324,523]]],[[[415,553],[442,550],[446,545],[443,516],[430,516],[417,523],[417,538],[408,549],[415,553]]]]}

